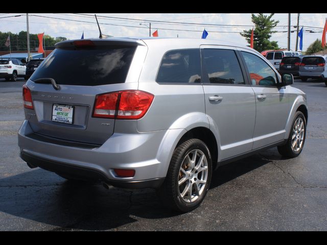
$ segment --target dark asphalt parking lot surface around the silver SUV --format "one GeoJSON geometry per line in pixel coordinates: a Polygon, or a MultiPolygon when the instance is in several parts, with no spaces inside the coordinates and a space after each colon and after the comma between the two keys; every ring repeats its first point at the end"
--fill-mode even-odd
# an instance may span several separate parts
{"type": "Polygon", "coordinates": [[[301,155],[276,148],[220,167],[204,202],[179,214],[155,191],[71,183],[19,158],[17,130],[24,80],[0,79],[0,231],[326,231],[327,87],[295,80],[307,93],[301,155]]]}

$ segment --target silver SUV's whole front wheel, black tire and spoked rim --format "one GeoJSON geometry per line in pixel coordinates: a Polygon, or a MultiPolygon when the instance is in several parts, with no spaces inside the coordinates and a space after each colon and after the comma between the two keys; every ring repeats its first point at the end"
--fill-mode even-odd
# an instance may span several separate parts
{"type": "Polygon", "coordinates": [[[305,115],[297,111],[294,115],[289,138],[285,145],[277,146],[279,154],[284,157],[300,155],[306,140],[307,124],[305,115]]]}

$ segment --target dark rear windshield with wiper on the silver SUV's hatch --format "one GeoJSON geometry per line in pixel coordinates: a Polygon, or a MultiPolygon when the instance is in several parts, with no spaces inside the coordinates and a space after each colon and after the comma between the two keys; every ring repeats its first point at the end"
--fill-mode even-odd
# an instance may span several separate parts
{"type": "Polygon", "coordinates": [[[124,83],[135,46],[57,48],[33,73],[31,80],[53,78],[57,84],[97,86],[124,83]]]}

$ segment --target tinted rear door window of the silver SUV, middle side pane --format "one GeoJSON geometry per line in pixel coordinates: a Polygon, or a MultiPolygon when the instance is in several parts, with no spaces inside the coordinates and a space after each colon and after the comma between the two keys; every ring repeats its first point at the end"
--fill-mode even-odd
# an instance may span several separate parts
{"type": "Polygon", "coordinates": [[[233,50],[205,49],[204,65],[210,83],[245,84],[239,61],[233,50]]]}

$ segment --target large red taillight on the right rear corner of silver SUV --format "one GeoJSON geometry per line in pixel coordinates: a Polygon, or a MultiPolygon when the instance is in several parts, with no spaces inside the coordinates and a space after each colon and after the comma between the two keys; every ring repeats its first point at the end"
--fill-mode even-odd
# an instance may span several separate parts
{"type": "Polygon", "coordinates": [[[140,90],[124,90],[96,96],[93,117],[139,119],[150,108],[154,95],[140,90]]]}

